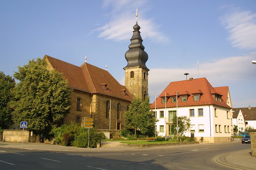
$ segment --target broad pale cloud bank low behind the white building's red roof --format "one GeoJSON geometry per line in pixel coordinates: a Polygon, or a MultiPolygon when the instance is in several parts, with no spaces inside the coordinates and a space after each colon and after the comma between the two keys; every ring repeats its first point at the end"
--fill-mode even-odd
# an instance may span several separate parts
{"type": "MultiPolygon", "coordinates": [[[[241,85],[244,82],[254,78],[255,65],[251,63],[256,56],[252,54],[246,56],[228,57],[212,63],[200,63],[199,78],[207,78],[213,87],[241,85]]],[[[149,71],[148,90],[151,100],[154,100],[155,92],[157,96],[165,87],[173,82],[185,80],[185,72],[188,72],[188,78],[198,78],[197,61],[195,68],[179,69],[151,69],[149,71]]]]}

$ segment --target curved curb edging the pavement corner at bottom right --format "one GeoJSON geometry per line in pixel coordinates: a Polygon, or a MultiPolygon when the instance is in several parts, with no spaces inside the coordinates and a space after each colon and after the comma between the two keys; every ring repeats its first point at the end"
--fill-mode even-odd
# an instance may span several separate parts
{"type": "Polygon", "coordinates": [[[224,165],[224,166],[228,166],[228,167],[232,167],[232,168],[235,168],[235,169],[242,169],[242,170],[256,170],[256,169],[252,169],[252,168],[249,168],[249,167],[245,167],[245,166],[241,166],[241,165],[236,165],[236,164],[233,164],[233,163],[230,163],[226,160],[226,157],[229,155],[230,153],[225,153],[225,154],[220,154],[220,155],[217,155],[215,156],[215,160],[218,164],[221,164],[221,165],[224,165]]]}

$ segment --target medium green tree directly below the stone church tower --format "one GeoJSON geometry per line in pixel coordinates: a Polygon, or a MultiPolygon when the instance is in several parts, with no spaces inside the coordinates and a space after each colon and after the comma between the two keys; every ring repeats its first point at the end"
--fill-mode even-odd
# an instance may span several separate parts
{"type": "Polygon", "coordinates": [[[148,98],[145,101],[140,98],[134,98],[124,115],[126,128],[135,130],[134,137],[136,137],[137,130],[148,136],[148,133],[154,129],[158,121],[154,114],[155,112],[150,110],[148,98]]]}

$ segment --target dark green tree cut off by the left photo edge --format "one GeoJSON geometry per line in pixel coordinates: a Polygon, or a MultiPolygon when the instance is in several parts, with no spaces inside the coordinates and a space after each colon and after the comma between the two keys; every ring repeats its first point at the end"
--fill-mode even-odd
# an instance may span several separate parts
{"type": "Polygon", "coordinates": [[[9,102],[12,100],[12,90],[15,87],[15,80],[11,76],[5,76],[0,71],[0,141],[3,140],[3,130],[8,129],[13,124],[12,111],[9,102]]]}

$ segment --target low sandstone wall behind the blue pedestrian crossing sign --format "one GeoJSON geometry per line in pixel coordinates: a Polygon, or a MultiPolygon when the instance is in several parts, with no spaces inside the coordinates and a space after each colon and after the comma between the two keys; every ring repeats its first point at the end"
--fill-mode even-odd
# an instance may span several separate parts
{"type": "MultiPolygon", "coordinates": [[[[3,142],[22,142],[23,130],[4,130],[3,142]]],[[[24,130],[23,143],[31,142],[30,131],[24,130]]],[[[36,135],[33,134],[32,142],[36,142],[36,135]]]]}

